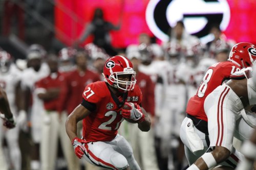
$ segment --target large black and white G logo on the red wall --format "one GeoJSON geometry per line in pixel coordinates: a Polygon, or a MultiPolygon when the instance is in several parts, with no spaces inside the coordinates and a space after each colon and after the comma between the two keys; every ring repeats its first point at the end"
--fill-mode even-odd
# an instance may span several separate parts
{"type": "Polygon", "coordinates": [[[183,20],[189,34],[202,38],[215,23],[222,31],[226,30],[230,9],[226,0],[151,0],[148,3],[147,25],[162,41],[168,41],[169,27],[174,27],[179,20],[183,20]]]}

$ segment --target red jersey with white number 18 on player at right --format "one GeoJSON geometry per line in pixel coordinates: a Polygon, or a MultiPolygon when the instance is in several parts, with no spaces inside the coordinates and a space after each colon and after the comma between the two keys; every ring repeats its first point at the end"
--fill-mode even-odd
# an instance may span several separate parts
{"type": "Polygon", "coordinates": [[[189,99],[186,113],[208,121],[204,112],[204,100],[206,96],[218,86],[222,85],[225,80],[230,79],[231,74],[240,69],[237,64],[230,61],[224,61],[210,66],[203,77],[203,81],[196,95],[189,99]]]}

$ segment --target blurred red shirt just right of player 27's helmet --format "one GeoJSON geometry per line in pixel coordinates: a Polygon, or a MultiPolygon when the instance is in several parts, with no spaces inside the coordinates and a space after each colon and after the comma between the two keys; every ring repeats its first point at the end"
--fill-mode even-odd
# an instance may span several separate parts
{"type": "Polygon", "coordinates": [[[149,112],[152,116],[155,115],[155,84],[151,80],[150,76],[145,75],[143,72],[137,72],[136,74],[137,84],[139,85],[143,100],[142,106],[146,112],[149,112]]]}

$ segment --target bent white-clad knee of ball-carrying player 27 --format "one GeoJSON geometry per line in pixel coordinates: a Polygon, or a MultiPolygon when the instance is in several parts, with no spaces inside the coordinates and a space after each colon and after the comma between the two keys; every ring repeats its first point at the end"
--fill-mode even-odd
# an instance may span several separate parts
{"type": "Polygon", "coordinates": [[[125,169],[129,166],[126,158],[119,153],[114,153],[113,155],[111,155],[110,160],[111,163],[120,170],[125,169]]]}

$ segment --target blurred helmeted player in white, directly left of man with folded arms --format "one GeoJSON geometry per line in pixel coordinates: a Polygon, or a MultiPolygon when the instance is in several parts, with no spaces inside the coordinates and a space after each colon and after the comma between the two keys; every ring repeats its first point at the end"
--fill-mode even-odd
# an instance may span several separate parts
{"type": "Polygon", "coordinates": [[[31,147],[24,151],[21,148],[22,157],[30,157],[24,159],[24,164],[26,168],[29,168],[28,166],[30,166],[33,170],[40,169],[39,148],[42,137],[42,115],[45,114],[44,104],[38,98],[36,91],[34,90],[34,85],[37,81],[47,77],[49,74],[49,66],[44,62],[45,57],[46,52],[40,45],[32,44],[30,46],[30,51],[27,55],[28,68],[23,70],[20,83],[20,88],[22,89],[21,96],[23,98],[20,100],[22,103],[21,109],[28,113],[28,119],[31,122],[31,131],[29,131],[29,133],[31,133],[32,137],[32,142],[28,142],[29,144],[32,144],[31,147]]]}

